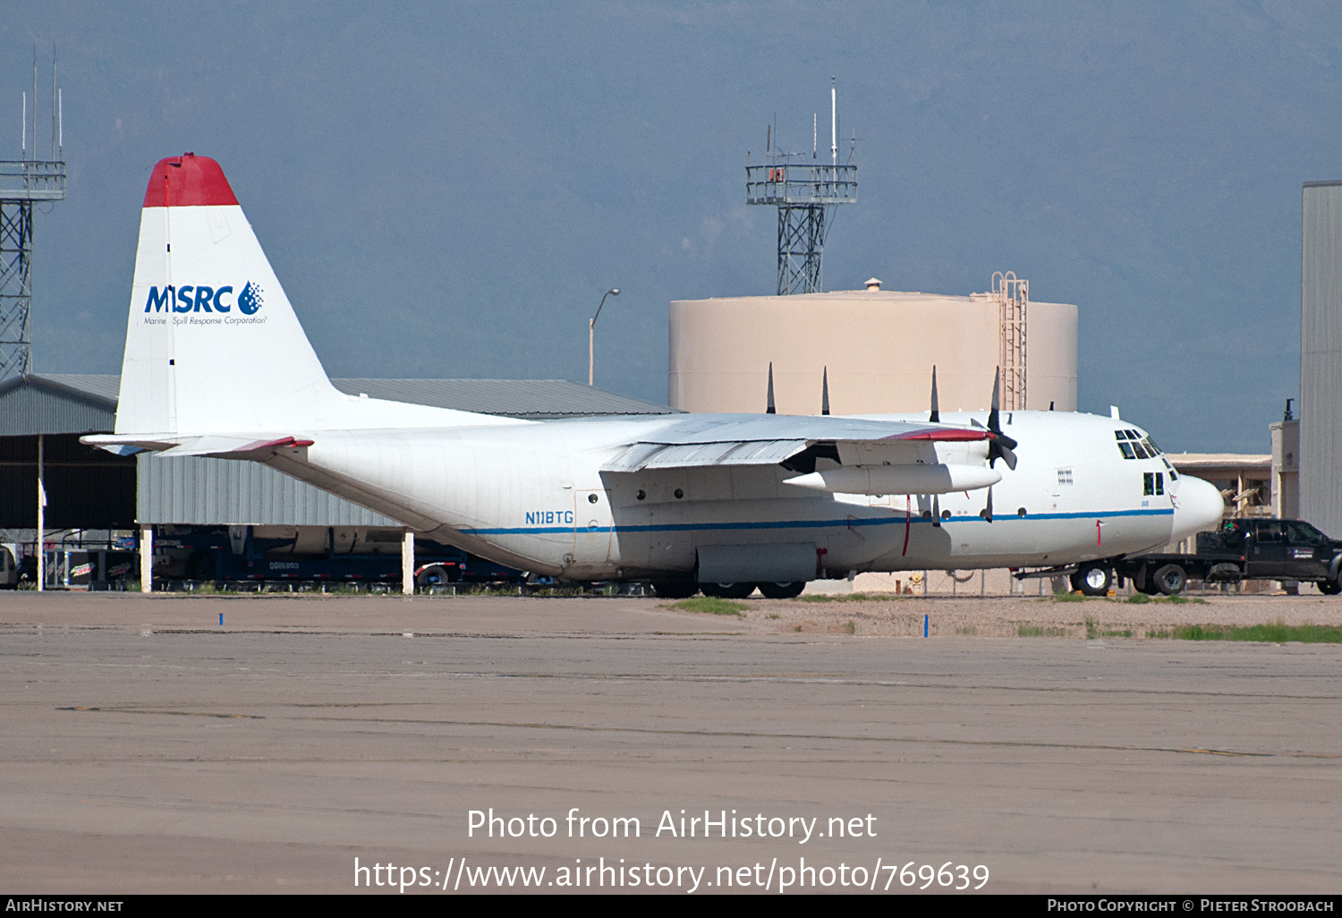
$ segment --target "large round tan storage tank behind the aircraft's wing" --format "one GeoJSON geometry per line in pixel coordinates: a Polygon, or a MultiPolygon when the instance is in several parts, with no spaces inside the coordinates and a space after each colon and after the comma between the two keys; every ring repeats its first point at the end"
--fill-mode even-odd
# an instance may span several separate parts
{"type": "Polygon", "coordinates": [[[1017,299],[1024,321],[1013,326],[997,294],[879,285],[672,301],[670,403],[692,412],[764,411],[773,362],[778,413],[820,413],[825,368],[835,415],[926,411],[935,365],[942,411],[976,411],[988,408],[996,368],[1024,356],[1025,404],[1005,397],[1002,405],[1076,409],[1076,306],[1017,299]]]}

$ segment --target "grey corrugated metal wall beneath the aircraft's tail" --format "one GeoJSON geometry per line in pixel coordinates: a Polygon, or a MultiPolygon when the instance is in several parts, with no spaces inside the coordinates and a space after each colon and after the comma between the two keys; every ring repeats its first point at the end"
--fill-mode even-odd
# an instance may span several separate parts
{"type": "Polygon", "coordinates": [[[137,456],[141,523],[399,526],[255,462],[137,456]]]}

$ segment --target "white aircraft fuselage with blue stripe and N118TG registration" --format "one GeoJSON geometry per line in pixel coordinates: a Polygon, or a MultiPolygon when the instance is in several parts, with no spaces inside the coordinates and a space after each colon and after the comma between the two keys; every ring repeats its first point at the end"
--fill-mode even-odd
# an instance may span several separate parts
{"type": "MultiPolygon", "coordinates": [[[[688,574],[705,545],[813,542],[831,576],[1063,565],[1159,548],[1221,511],[1210,484],[1174,479],[1158,456],[1125,458],[1115,429],[1130,423],[1070,412],[1002,412],[1019,464],[996,463],[992,522],[985,489],[828,494],[785,483],[798,474],[776,464],[601,470],[683,417],[311,431],[311,447],[270,464],[482,557],[574,580],[688,574]],[[1146,493],[1154,475],[1161,494],[1146,493]]],[[[942,415],[972,420],[986,412],[942,415]]]]}

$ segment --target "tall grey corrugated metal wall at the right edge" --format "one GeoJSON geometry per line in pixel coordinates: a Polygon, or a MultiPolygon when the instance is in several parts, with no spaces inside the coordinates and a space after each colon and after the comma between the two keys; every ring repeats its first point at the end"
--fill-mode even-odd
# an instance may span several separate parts
{"type": "Polygon", "coordinates": [[[1300,258],[1300,517],[1342,538],[1342,183],[1306,183],[1300,258]]]}

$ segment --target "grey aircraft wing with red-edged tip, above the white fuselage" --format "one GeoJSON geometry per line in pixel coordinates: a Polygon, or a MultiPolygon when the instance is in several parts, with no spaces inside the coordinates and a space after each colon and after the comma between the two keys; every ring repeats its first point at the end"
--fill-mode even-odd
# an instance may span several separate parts
{"type": "Polygon", "coordinates": [[[947,424],[909,424],[828,416],[695,415],[672,421],[631,443],[601,470],[633,472],[644,468],[694,466],[773,466],[831,444],[837,452],[880,444],[884,463],[926,463],[934,454],[919,450],[935,442],[974,442],[992,438],[985,429],[947,424]]]}

